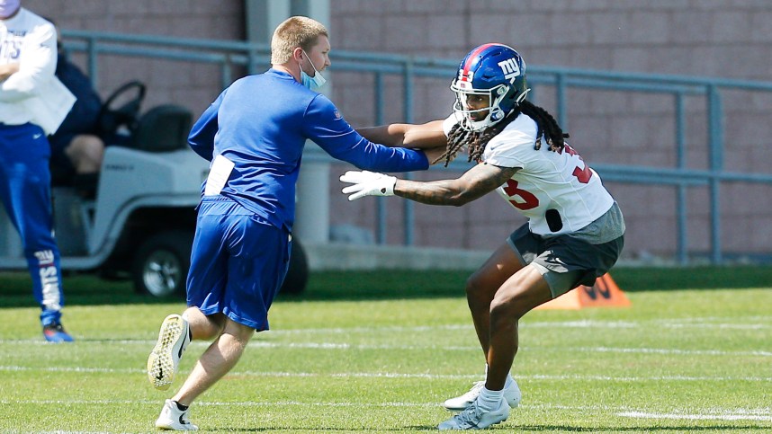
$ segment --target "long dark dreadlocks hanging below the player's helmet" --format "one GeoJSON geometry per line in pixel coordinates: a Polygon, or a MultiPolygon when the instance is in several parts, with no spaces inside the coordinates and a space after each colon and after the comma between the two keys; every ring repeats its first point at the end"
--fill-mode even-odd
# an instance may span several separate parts
{"type": "Polygon", "coordinates": [[[550,146],[551,151],[559,152],[563,149],[563,146],[565,146],[563,139],[569,137],[568,133],[563,132],[561,126],[558,125],[558,121],[552,117],[549,111],[534,105],[532,102],[523,100],[517,105],[515,110],[507,115],[507,118],[482,131],[471,131],[462,128],[460,123],[453,125],[453,128],[448,133],[447,149],[432,164],[444,160],[444,166],[447,167],[464,145],[469,148],[469,160],[467,161],[480,162],[485,146],[488,145],[490,139],[496,137],[498,133],[509,125],[509,122],[516,120],[520,113],[525,113],[536,121],[534,150],[538,151],[542,148],[542,137],[547,139],[547,145],[550,146]]]}

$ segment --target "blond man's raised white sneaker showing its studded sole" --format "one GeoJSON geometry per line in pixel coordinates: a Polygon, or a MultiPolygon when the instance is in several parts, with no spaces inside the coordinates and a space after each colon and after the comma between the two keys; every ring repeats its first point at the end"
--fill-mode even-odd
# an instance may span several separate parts
{"type": "Polygon", "coordinates": [[[148,379],[158,390],[168,389],[175,381],[177,365],[190,341],[188,322],[178,314],[166,316],[156,346],[148,357],[148,379]]]}

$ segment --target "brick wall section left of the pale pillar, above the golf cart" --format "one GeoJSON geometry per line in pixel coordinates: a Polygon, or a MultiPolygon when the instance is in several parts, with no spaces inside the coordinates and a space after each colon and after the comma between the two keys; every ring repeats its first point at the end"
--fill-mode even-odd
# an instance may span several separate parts
{"type": "MultiPolygon", "coordinates": [[[[67,30],[210,40],[245,38],[244,2],[239,0],[24,0],[22,5],[67,30]]],[[[83,56],[75,54],[72,59],[85,69],[83,56]]],[[[145,110],[175,103],[198,116],[221,90],[217,66],[103,56],[98,67],[98,90],[103,97],[130,80],[145,83],[145,110]]]]}

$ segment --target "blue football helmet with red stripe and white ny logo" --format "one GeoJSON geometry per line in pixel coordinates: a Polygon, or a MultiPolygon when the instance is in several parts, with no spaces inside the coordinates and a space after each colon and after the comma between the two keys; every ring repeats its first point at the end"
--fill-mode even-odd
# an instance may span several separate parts
{"type": "Polygon", "coordinates": [[[503,44],[483,44],[461,61],[451,90],[453,111],[463,128],[480,131],[507,117],[525,100],[525,61],[503,44]],[[487,97],[488,107],[472,108],[472,98],[487,97]]]}

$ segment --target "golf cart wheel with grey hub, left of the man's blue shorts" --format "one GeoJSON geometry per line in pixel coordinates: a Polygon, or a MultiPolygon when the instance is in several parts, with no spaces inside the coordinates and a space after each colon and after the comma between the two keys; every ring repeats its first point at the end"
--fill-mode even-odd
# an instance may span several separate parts
{"type": "Polygon", "coordinates": [[[145,241],[134,257],[134,288],[154,297],[184,295],[193,234],[164,232],[145,241]]]}

